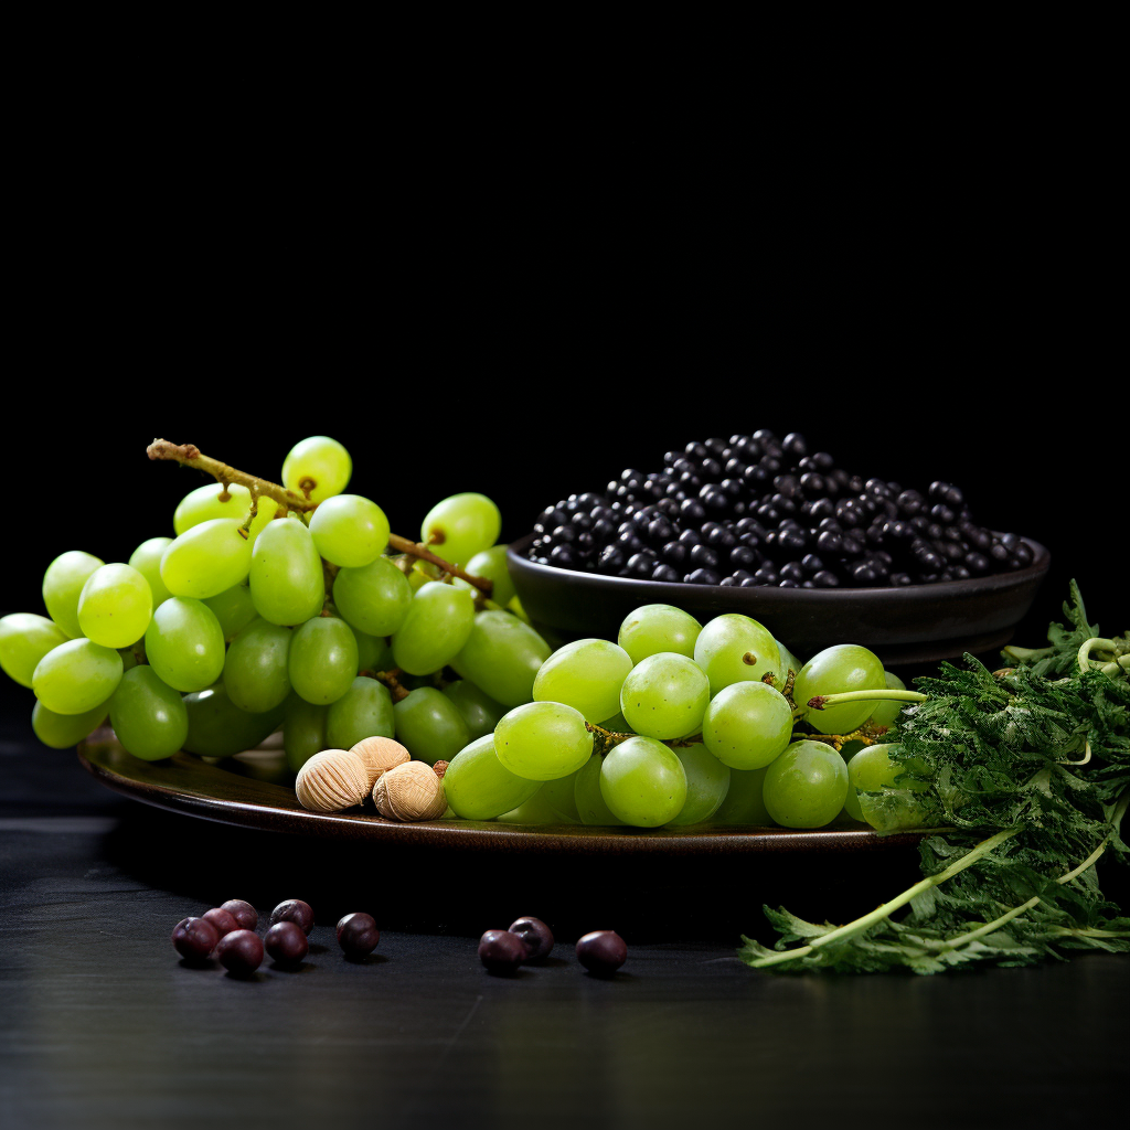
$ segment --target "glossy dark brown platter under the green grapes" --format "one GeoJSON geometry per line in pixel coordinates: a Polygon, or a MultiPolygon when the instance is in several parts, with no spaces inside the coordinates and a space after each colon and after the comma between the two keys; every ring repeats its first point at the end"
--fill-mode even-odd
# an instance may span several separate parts
{"type": "Polygon", "coordinates": [[[294,790],[263,780],[281,755],[255,751],[212,764],[191,754],[160,762],[142,762],[128,754],[113,732],[99,730],[78,747],[82,767],[104,785],[134,800],[174,812],[264,832],[285,832],[323,840],[446,850],[492,850],[515,853],[731,855],[749,852],[827,853],[879,851],[916,844],[920,834],[878,836],[852,827],[811,832],[789,828],[725,827],[617,828],[579,825],[519,825],[477,820],[427,820],[397,824],[375,812],[307,812],[294,790]]]}

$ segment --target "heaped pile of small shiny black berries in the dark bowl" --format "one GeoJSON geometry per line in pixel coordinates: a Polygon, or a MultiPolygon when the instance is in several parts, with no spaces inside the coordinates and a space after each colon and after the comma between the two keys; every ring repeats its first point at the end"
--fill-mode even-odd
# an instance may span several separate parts
{"type": "Polygon", "coordinates": [[[688,443],[661,471],[628,468],[605,494],[547,507],[533,531],[542,565],[688,584],[932,584],[1033,559],[1015,533],[977,525],[957,487],[864,481],[796,432],[688,443]]]}

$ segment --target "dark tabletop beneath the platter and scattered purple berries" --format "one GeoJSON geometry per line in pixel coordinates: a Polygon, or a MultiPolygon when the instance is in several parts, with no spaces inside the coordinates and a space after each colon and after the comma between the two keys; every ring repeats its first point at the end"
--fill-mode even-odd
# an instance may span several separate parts
{"type": "MultiPolygon", "coordinates": [[[[738,962],[728,927],[714,937],[702,925],[734,906],[758,919],[767,876],[709,864],[690,879],[659,868],[623,880],[643,884],[654,912],[637,936],[623,931],[629,957],[615,980],[581,971],[575,930],[563,930],[549,965],[495,977],[470,920],[444,923],[453,885],[480,886],[490,909],[477,935],[531,903],[553,920],[539,899],[567,894],[567,876],[540,890],[536,873],[523,879],[525,905],[502,921],[505,899],[493,901],[481,868],[400,859],[389,875],[341,846],[308,855],[285,837],[123,800],[72,753],[29,741],[23,723],[5,723],[0,739],[0,1123],[11,1130],[1089,1125],[1127,1084],[1125,957],[937,977],[773,976],[738,962]],[[350,885],[367,905],[342,902],[350,885]],[[346,962],[336,915],[380,918],[382,889],[397,892],[397,929],[367,962],[346,962]],[[287,896],[314,904],[299,972],[268,963],[247,981],[179,962],[176,921],[249,896],[261,912],[287,896]]],[[[845,892],[836,872],[822,890],[819,875],[806,893],[838,886],[857,912],[873,905],[866,884],[845,892]]],[[[600,914],[620,881],[594,894],[600,914]]],[[[584,890],[573,894],[583,905],[584,890]]],[[[560,898],[560,921],[582,921],[560,898]]]]}

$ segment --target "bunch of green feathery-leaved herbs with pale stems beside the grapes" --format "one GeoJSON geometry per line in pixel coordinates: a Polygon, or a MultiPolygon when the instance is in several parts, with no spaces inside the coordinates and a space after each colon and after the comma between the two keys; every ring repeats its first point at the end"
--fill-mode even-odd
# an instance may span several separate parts
{"type": "Polygon", "coordinates": [[[990,672],[966,655],[964,668],[942,663],[899,696],[909,705],[888,739],[899,788],[860,800],[885,831],[939,827],[921,844],[924,878],[842,927],[765,907],[781,938],[775,949],[744,938],[744,960],[938,973],[1130,950],[1130,918],[1094,868],[1128,854],[1130,633],[1099,636],[1075,582],[1064,614],[1071,626],[1051,625],[1050,646],[1008,649],[1012,666],[990,672]]]}

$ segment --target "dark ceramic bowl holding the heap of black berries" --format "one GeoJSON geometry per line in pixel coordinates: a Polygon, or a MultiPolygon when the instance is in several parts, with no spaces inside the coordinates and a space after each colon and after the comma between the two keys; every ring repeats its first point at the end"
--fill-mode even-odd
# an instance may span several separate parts
{"type": "Polygon", "coordinates": [[[511,545],[511,576],[530,618],[566,635],[615,640],[634,608],[675,605],[704,623],[720,612],[751,616],[801,659],[832,644],[858,643],[893,667],[1002,647],[1032,607],[1051,563],[1040,542],[1025,538],[1034,555],[1031,565],[968,581],[902,589],[741,589],[538,565],[523,556],[532,540],[531,533],[511,545]]]}

